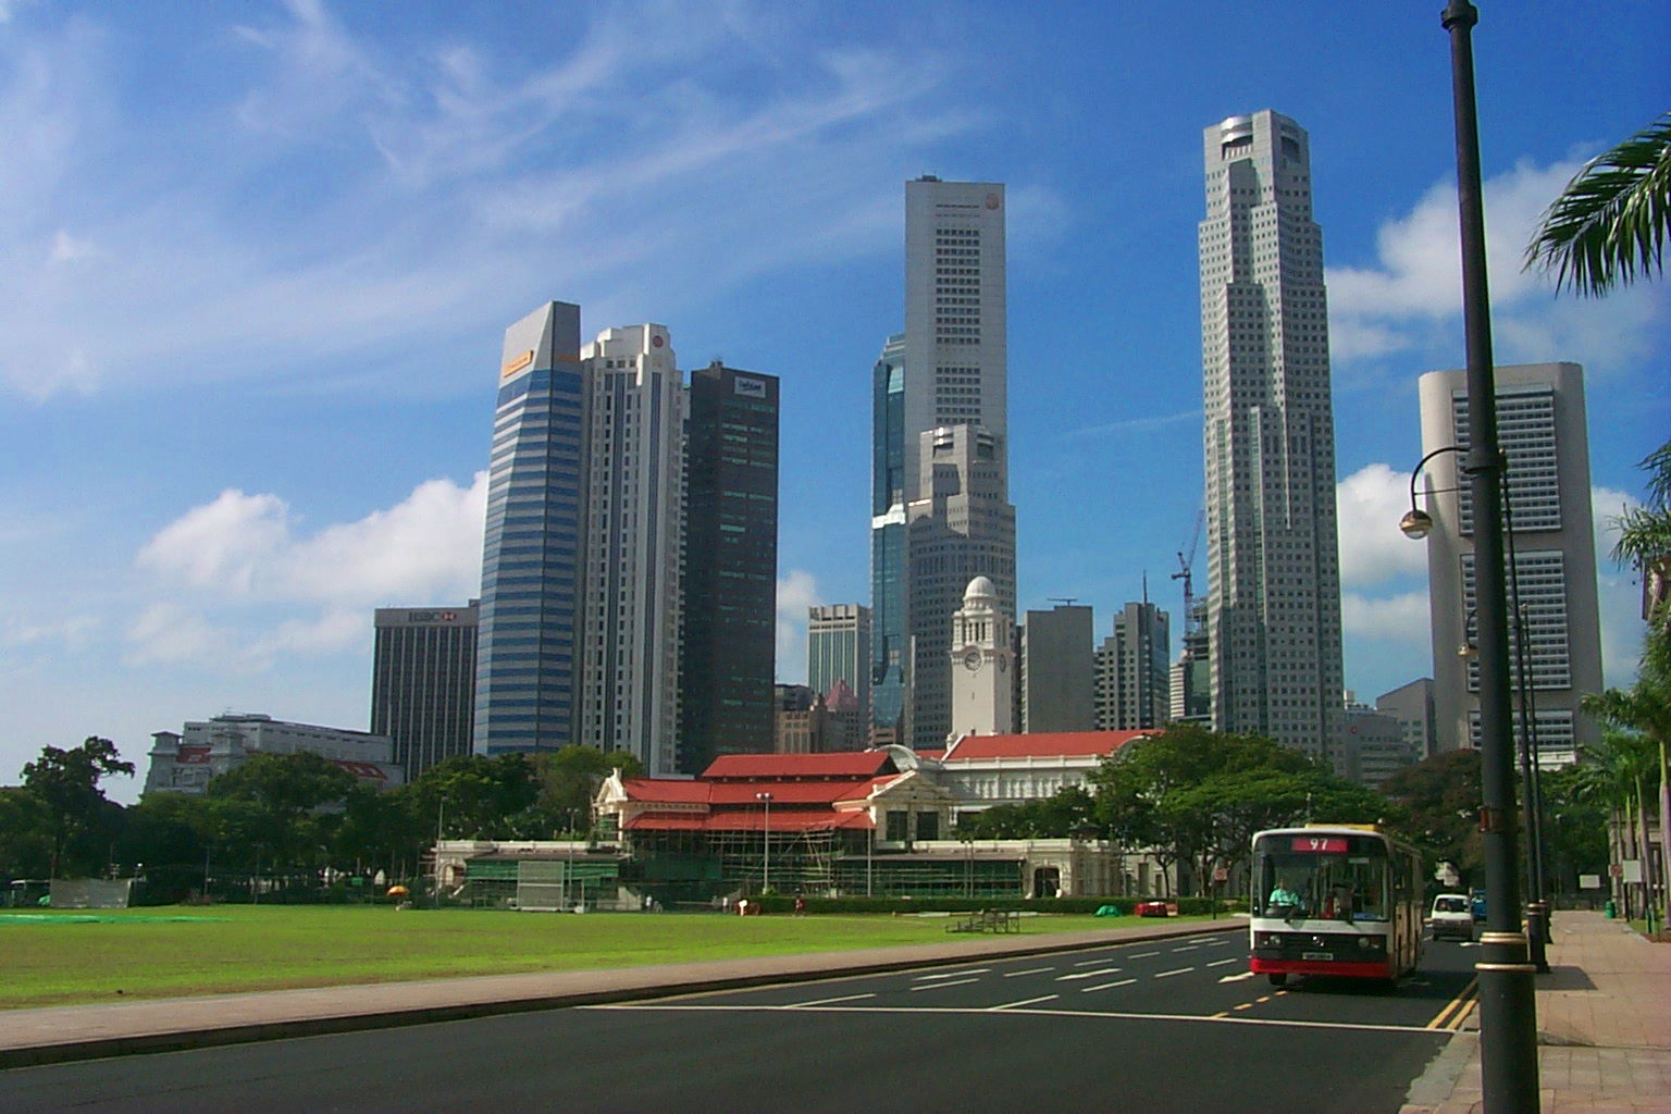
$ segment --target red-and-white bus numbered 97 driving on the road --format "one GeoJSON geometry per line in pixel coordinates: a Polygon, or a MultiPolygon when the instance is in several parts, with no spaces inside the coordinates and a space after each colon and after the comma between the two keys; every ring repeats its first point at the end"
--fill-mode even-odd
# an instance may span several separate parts
{"type": "Polygon", "coordinates": [[[1422,947],[1422,860],[1375,825],[1308,823],[1253,837],[1253,974],[1397,982],[1422,947]]]}

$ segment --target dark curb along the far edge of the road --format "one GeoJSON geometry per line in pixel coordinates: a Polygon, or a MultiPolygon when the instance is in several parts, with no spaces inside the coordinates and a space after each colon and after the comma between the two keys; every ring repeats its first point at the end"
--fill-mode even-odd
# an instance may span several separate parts
{"type": "MultiPolygon", "coordinates": [[[[1238,927],[1238,925],[1228,925],[1238,927]]],[[[648,1002],[685,994],[710,994],[715,990],[745,990],[762,985],[789,985],[799,982],[822,982],[827,979],[849,979],[856,975],[879,975],[917,967],[959,967],[971,959],[1009,959],[1024,955],[1046,955],[1053,952],[1088,952],[1116,944],[1145,944],[1150,940],[1180,940],[1191,935],[1210,935],[1225,932],[1227,925],[1191,927],[1178,932],[1148,932],[1125,935],[1115,940],[1074,940],[1071,944],[1029,944],[1014,949],[983,950],[978,955],[922,959],[901,957],[889,960],[872,960],[867,964],[832,965],[807,970],[762,970],[739,975],[697,977],[685,982],[667,982],[660,985],[640,987],[600,987],[595,990],[565,990],[556,994],[531,994],[510,997],[496,1002],[461,1002],[448,1005],[411,1005],[398,1009],[369,1009],[364,1012],[336,1014],[328,1017],[294,1017],[284,1020],[249,1022],[241,1025],[206,1025],[202,1029],[182,1029],[175,1032],[137,1034],[122,1037],[97,1037],[89,1041],[63,1041],[53,1044],[37,1044],[17,1049],[0,1049],[0,1071],[13,1067],[43,1067],[48,1064],[69,1064],[77,1061],[95,1061],[114,1056],[140,1056],[152,1052],[180,1052],[187,1049],[222,1047],[229,1044],[252,1044],[259,1041],[286,1041],[292,1037],[333,1036],[343,1032],[366,1032],[374,1029],[399,1029],[406,1025],[429,1025],[448,1020],[471,1020],[476,1017],[500,1017],[510,1014],[530,1014],[546,1009],[563,1009],[575,1005],[612,1005],[617,1002],[648,1002]]],[[[941,945],[927,945],[941,947],[941,945]]],[[[830,955],[841,955],[832,952],[830,955]]],[[[785,959],[785,957],[779,957],[785,959]]],[[[795,959],[795,957],[787,957],[795,959]]],[[[725,962],[725,960],[717,960],[725,962]]],[[[620,969],[620,974],[633,969],[620,969]]],[[[585,974],[585,972],[575,972],[585,974]]],[[[503,977],[503,975],[486,975],[503,977]]],[[[5,1014],[0,1012],[0,1019],[5,1014]]]]}

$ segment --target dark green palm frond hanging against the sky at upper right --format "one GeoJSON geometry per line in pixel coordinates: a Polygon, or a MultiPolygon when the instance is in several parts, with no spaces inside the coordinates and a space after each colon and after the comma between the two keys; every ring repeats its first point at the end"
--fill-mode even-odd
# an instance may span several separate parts
{"type": "Polygon", "coordinates": [[[1556,271],[1556,289],[1587,296],[1661,272],[1671,229],[1671,112],[1584,164],[1526,249],[1526,266],[1556,271]]]}

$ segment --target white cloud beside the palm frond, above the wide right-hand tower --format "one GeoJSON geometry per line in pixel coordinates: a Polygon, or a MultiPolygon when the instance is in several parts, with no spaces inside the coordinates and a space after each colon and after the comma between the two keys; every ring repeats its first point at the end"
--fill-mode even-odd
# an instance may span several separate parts
{"type": "MultiPolygon", "coordinates": [[[[1651,351],[1661,302],[1646,287],[1606,299],[1554,297],[1547,276],[1522,269],[1546,205],[1582,165],[1521,160],[1484,184],[1492,336],[1501,362],[1581,359],[1606,371],[1651,351]]],[[[1462,262],[1455,184],[1440,180],[1404,215],[1382,224],[1375,264],[1328,269],[1330,354],[1337,361],[1414,352],[1455,364],[1462,262]]]]}

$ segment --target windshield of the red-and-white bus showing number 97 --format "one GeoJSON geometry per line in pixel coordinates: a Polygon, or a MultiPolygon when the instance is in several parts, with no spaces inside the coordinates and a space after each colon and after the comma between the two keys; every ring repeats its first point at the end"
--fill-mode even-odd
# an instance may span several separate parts
{"type": "Polygon", "coordinates": [[[1253,848],[1255,915],[1387,920],[1385,845],[1359,835],[1265,835],[1253,848]]]}

